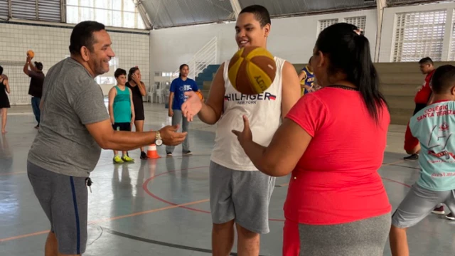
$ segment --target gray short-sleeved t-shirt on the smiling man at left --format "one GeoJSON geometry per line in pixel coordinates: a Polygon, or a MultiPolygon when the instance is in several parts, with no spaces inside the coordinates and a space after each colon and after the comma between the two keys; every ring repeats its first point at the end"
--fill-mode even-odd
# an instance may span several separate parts
{"type": "Polygon", "coordinates": [[[85,124],[109,119],[100,85],[76,60],[53,65],[43,84],[43,110],[28,161],[48,171],[87,177],[101,148],[85,124]]]}

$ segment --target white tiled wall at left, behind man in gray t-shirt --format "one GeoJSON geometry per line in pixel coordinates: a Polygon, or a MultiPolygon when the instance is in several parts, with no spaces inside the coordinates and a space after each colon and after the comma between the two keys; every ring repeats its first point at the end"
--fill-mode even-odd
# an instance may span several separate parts
{"type": "MultiPolygon", "coordinates": [[[[32,49],[35,52],[32,61],[43,63],[46,73],[52,65],[70,55],[68,46],[72,28],[70,25],[56,23],[0,22],[0,65],[9,76],[11,104],[30,102],[30,79],[22,71],[26,51],[32,49]]],[[[149,85],[149,31],[107,29],[112,40],[112,49],[119,60],[117,68],[128,72],[129,68],[138,65],[142,80],[149,85]]],[[[110,73],[113,74],[114,70],[109,70],[110,73]]],[[[102,89],[107,94],[111,86],[102,85],[102,89]]]]}

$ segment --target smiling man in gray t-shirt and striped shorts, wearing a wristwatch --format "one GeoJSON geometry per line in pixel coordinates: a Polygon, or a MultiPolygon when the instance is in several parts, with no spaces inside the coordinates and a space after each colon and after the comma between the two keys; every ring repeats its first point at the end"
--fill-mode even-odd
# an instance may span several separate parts
{"type": "Polygon", "coordinates": [[[85,252],[87,186],[102,148],[177,145],[186,137],[185,132],[176,132],[177,126],[157,132],[112,129],[102,90],[94,80],[109,71],[114,57],[103,24],[78,23],[71,33],[70,53],[45,77],[40,129],[28,152],[28,179],[50,221],[46,255],[85,252]]]}

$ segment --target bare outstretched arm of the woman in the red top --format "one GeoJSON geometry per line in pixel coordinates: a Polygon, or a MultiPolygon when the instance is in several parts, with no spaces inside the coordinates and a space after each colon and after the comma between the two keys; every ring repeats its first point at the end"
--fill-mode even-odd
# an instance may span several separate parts
{"type": "Polygon", "coordinates": [[[312,139],[299,124],[291,119],[284,119],[269,146],[261,146],[253,142],[247,117],[244,116],[243,121],[243,131],[232,132],[237,135],[240,145],[256,168],[269,176],[290,174],[312,139]]]}

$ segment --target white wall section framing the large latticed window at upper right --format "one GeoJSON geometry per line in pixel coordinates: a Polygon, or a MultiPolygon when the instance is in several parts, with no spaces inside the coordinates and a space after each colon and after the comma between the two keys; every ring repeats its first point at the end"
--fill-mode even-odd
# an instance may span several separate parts
{"type": "Polygon", "coordinates": [[[416,6],[402,6],[384,9],[382,21],[382,35],[380,38],[379,62],[391,62],[393,57],[393,45],[395,43],[395,14],[416,12],[416,11],[435,11],[447,10],[446,31],[444,38],[444,48],[442,51],[442,60],[447,60],[449,55],[449,46],[451,41],[452,14],[455,8],[455,3],[448,4],[426,4],[416,6]]]}

